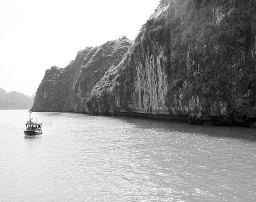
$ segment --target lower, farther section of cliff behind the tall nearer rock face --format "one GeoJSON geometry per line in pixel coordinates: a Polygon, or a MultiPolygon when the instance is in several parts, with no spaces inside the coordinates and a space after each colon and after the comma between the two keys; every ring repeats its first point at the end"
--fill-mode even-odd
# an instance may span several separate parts
{"type": "Polygon", "coordinates": [[[81,102],[102,75],[118,64],[131,45],[126,37],[108,41],[100,47],[79,51],[76,59],[61,69],[46,70],[38,87],[32,110],[81,111],[81,102]]]}

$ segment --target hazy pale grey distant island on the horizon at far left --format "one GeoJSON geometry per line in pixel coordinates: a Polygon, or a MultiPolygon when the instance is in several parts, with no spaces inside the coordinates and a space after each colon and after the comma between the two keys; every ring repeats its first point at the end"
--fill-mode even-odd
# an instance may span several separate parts
{"type": "Polygon", "coordinates": [[[23,93],[6,91],[0,88],[0,109],[30,109],[34,102],[35,93],[29,97],[23,93]]]}

